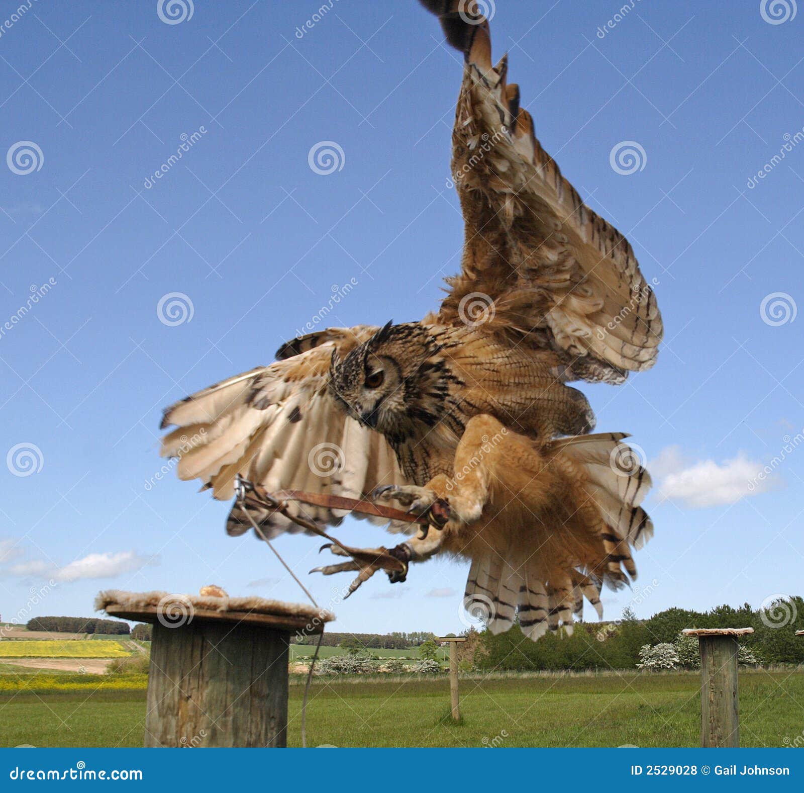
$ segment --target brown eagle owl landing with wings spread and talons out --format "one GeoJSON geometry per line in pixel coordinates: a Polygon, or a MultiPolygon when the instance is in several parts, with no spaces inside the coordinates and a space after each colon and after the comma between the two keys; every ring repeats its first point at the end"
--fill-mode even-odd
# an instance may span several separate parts
{"type": "MultiPolygon", "coordinates": [[[[465,56],[452,171],[466,241],[449,294],[417,323],[293,339],[275,363],[178,402],[162,454],[216,499],[232,499],[240,475],[426,514],[433,528],[420,536],[386,521],[408,532],[389,552],[405,573],[437,553],[468,559],[465,605],[479,604],[491,631],[518,618],[538,639],[570,631],[584,598],[601,614],[601,586],[636,575],[631,549],[653,531],[639,506],[650,477],[624,433],[591,434],[589,403],[568,383],[650,368],[662,322],[628,241],[536,140],[507,57],[492,65],[477,6],[422,2],[465,56]]],[[[321,527],[347,514],[289,509],[321,527]]],[[[228,533],[249,519],[268,537],[301,531],[236,502],[228,533]]],[[[319,570],[383,568],[353,556],[319,570]]]]}

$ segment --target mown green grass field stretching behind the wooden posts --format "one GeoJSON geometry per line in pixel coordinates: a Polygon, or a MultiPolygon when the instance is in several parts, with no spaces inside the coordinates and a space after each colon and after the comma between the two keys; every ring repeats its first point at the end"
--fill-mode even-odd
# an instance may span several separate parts
{"type": "MultiPolygon", "coordinates": [[[[70,676],[72,680],[72,676],[70,676]]],[[[54,684],[67,676],[58,677],[54,684]]],[[[86,683],[87,681],[78,681],[86,683]]],[[[91,682],[91,681],[90,681],[91,682]]],[[[301,743],[301,685],[289,742],[301,743]]],[[[463,723],[445,721],[449,683],[327,683],[310,691],[310,746],[697,746],[695,675],[461,680],[463,723]]],[[[144,690],[0,695],[0,744],[142,746],[144,690]]],[[[804,673],[740,672],[743,746],[787,746],[802,731],[804,673]],[[786,739],[787,738],[787,742],[786,739]]]]}

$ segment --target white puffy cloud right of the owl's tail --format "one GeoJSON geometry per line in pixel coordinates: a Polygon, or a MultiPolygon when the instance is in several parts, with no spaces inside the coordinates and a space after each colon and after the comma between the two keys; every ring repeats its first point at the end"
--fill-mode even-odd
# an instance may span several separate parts
{"type": "Polygon", "coordinates": [[[771,490],[777,479],[761,474],[763,467],[743,452],[723,462],[689,462],[678,446],[663,450],[648,466],[658,480],[659,496],[687,507],[717,507],[771,490]]]}

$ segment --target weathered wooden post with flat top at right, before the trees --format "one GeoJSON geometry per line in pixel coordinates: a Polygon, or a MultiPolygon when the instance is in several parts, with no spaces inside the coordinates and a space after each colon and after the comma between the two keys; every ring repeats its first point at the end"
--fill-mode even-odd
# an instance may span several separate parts
{"type": "Polygon", "coordinates": [[[698,638],[701,654],[701,746],[740,746],[737,695],[737,639],[753,628],[701,628],[682,631],[698,638]]]}

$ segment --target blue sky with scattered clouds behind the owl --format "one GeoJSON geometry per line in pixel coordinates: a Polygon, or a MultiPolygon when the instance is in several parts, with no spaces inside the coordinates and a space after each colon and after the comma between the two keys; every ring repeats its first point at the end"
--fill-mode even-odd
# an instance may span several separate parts
{"type": "MultiPolygon", "coordinates": [[[[656,535],[609,618],[801,589],[804,13],[786,2],[784,22],[759,0],[498,0],[492,19],[540,141],[629,236],[665,320],[652,371],[580,385],[657,480],[656,535]],[[644,152],[630,175],[610,164],[622,142],[644,152]]],[[[0,326],[27,310],[0,333],[0,614],[212,582],[300,600],[268,549],[225,536],[227,504],[154,479],[161,409],[268,364],[343,285],[330,324],[436,305],[462,239],[460,56],[413,0],[341,0],[317,23],[320,2],[196,2],[177,24],[155,0],[17,6],[0,6],[0,326]],[[320,142],[340,170],[310,167],[320,142]],[[177,324],[158,316],[171,293],[177,324]]],[[[318,544],[277,542],[329,602],[346,581],[306,576],[318,544]]],[[[459,631],[466,570],[377,577],[334,606],[338,630],[459,631]]]]}

